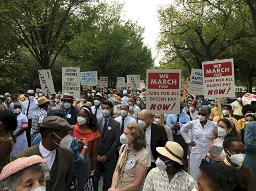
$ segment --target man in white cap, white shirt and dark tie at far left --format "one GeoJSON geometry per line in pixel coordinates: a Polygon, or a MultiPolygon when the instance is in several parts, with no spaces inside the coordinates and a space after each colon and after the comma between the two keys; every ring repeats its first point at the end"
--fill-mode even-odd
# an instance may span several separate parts
{"type": "Polygon", "coordinates": [[[37,100],[34,97],[34,90],[28,90],[28,99],[23,102],[22,113],[28,118],[28,128],[26,129],[28,147],[31,146],[30,131],[32,127],[32,115],[38,109],[37,100]]]}

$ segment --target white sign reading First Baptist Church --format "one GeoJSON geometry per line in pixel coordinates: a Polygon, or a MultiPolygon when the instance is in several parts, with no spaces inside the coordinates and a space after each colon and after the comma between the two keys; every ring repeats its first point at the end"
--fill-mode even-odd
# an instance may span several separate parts
{"type": "Polygon", "coordinates": [[[192,68],[188,93],[204,95],[204,78],[203,71],[201,69],[192,68]]]}

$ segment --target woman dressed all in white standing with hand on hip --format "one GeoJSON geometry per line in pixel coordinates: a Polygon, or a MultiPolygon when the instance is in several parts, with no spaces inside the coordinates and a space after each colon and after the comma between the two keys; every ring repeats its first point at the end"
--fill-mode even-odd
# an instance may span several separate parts
{"type": "Polygon", "coordinates": [[[180,129],[181,136],[192,147],[190,154],[190,175],[196,181],[198,181],[201,161],[205,158],[213,132],[218,127],[216,123],[208,120],[210,112],[209,106],[201,106],[198,112],[199,118],[186,123],[180,129]],[[193,135],[193,141],[186,135],[190,129],[193,135]]]}

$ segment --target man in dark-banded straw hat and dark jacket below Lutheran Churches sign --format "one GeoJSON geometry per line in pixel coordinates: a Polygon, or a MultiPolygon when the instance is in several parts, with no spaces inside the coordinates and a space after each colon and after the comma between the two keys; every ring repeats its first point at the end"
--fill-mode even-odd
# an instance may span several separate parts
{"type": "Polygon", "coordinates": [[[75,101],[73,94],[64,93],[62,101],[65,107],[67,121],[70,125],[74,126],[77,123],[77,114],[79,111],[73,106],[73,103],[75,101]]]}

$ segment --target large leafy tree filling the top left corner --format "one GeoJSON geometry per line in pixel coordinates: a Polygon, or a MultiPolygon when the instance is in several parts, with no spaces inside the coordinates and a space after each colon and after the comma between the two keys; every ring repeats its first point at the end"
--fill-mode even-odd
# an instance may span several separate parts
{"type": "Polygon", "coordinates": [[[88,0],[0,0],[0,22],[44,69],[51,68],[72,39],[74,12],[88,0]]]}

